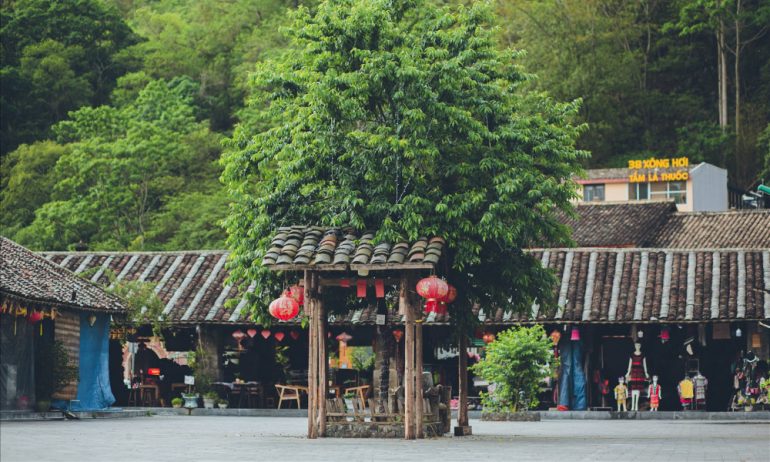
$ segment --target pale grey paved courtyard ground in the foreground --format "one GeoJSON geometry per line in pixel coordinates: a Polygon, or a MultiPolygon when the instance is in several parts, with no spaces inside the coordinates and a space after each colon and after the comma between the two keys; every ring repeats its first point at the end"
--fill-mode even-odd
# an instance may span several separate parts
{"type": "Polygon", "coordinates": [[[472,437],[307,440],[287,417],[147,417],[0,423],[0,461],[768,461],[770,424],[471,421],[472,437]]]}

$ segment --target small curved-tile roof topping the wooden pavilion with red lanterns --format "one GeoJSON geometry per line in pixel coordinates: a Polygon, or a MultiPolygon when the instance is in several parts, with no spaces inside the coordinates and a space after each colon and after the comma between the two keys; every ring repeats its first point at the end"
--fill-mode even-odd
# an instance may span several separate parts
{"type": "Polygon", "coordinates": [[[279,228],[262,259],[272,269],[347,270],[432,268],[441,259],[444,239],[421,237],[412,243],[374,244],[374,233],[339,228],[279,228]]]}

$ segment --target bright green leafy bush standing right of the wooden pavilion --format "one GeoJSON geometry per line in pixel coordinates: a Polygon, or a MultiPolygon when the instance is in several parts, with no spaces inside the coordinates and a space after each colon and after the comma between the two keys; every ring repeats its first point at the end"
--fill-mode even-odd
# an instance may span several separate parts
{"type": "Polygon", "coordinates": [[[484,409],[515,412],[537,406],[540,385],[553,374],[556,361],[553,343],[546,337],[543,326],[500,332],[497,339],[487,345],[484,358],[470,368],[495,385],[494,392],[482,396],[484,409]]]}

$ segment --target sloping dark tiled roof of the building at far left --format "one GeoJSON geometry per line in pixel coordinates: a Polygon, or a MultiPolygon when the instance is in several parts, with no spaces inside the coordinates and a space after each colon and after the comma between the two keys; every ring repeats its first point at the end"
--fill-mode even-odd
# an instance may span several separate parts
{"type": "Polygon", "coordinates": [[[40,305],[124,311],[118,297],[2,236],[0,292],[40,305]]]}

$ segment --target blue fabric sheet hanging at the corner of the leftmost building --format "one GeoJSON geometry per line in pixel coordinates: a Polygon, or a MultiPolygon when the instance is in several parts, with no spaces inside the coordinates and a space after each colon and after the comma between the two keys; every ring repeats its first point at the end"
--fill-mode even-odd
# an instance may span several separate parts
{"type": "Polygon", "coordinates": [[[74,411],[106,409],[115,402],[109,374],[110,315],[96,314],[93,326],[88,321],[90,316],[80,315],[79,403],[74,403],[74,411]]]}

